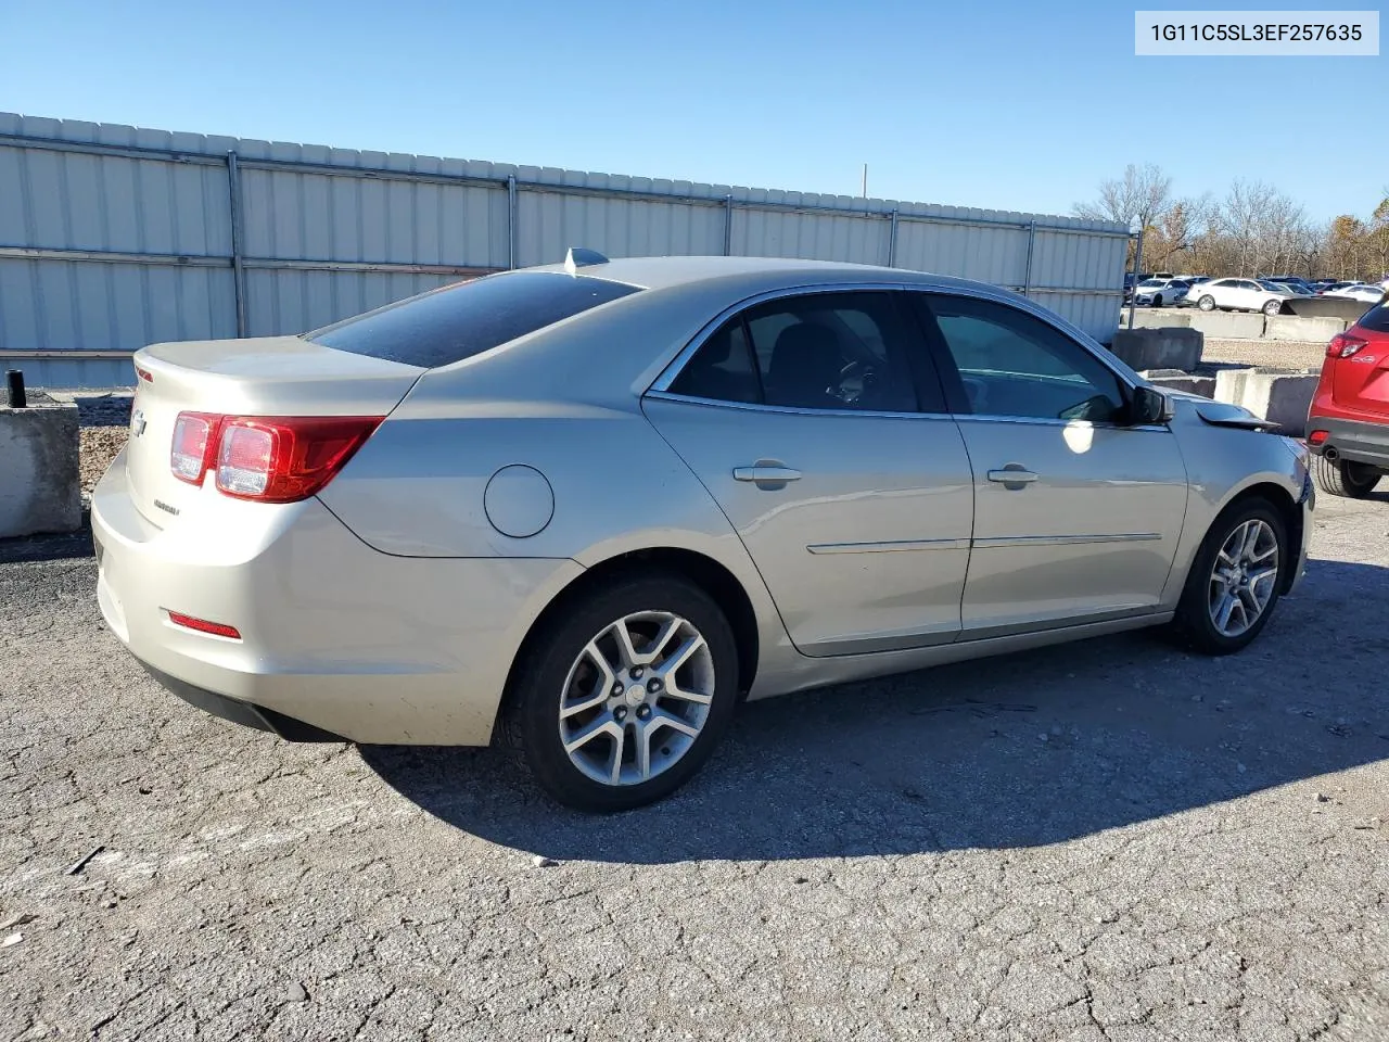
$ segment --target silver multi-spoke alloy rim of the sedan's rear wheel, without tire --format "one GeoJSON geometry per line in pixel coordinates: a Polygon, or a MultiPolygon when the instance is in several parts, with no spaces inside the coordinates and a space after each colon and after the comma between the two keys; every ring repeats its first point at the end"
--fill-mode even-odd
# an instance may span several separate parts
{"type": "Polygon", "coordinates": [[[560,741],[601,785],[640,785],[700,736],[714,699],[714,657],[689,620],[639,611],[604,627],[560,693],[560,741]]]}

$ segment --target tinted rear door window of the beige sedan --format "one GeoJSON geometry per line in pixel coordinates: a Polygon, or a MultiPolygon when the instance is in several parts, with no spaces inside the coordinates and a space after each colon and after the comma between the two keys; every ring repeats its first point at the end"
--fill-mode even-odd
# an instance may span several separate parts
{"type": "Polygon", "coordinates": [[[771,300],[704,342],[671,392],[788,408],[943,413],[935,374],[918,404],[913,357],[925,347],[890,293],[771,300]]]}

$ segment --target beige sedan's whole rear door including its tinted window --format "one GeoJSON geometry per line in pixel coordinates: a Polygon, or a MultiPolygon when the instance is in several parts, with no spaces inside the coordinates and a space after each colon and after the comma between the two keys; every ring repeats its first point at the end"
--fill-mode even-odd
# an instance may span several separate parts
{"type": "Polygon", "coordinates": [[[956,639],[972,475],[900,295],[753,304],[643,408],[728,515],[801,652],[956,639]]]}

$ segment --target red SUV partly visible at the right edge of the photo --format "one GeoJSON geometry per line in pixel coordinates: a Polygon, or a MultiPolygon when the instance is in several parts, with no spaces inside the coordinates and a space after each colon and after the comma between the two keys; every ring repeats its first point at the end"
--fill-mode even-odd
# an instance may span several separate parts
{"type": "Polygon", "coordinates": [[[1317,483],[1332,496],[1363,499],[1389,472],[1389,300],[1326,345],[1307,447],[1317,483]]]}

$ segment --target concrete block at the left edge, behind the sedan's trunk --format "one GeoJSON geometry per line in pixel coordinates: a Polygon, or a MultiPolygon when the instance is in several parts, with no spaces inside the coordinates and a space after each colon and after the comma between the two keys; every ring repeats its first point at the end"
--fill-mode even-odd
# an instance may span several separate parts
{"type": "Polygon", "coordinates": [[[0,406],[0,538],[81,527],[76,406],[0,406]]]}

